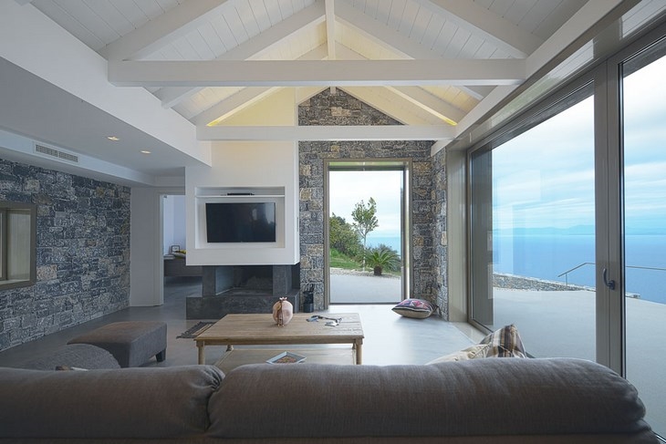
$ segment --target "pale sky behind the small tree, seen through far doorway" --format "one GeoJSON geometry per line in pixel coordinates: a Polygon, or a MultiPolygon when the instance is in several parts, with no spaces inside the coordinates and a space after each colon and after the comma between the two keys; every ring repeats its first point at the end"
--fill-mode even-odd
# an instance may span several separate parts
{"type": "Polygon", "coordinates": [[[353,223],[351,212],[359,201],[377,202],[380,226],[369,237],[395,237],[401,234],[402,171],[330,171],[329,212],[353,223]]]}

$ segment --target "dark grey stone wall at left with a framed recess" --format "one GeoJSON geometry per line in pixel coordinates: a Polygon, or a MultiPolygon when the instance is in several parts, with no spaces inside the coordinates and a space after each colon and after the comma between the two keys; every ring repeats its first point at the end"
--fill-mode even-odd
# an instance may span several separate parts
{"type": "Polygon", "coordinates": [[[129,188],[0,160],[0,200],[37,205],[37,282],[0,290],[0,350],[129,306],[129,188]]]}

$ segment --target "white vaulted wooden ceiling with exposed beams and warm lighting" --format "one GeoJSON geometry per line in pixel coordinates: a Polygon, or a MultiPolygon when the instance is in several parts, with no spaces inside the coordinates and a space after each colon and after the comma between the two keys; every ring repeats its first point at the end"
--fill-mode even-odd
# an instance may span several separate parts
{"type": "Polygon", "coordinates": [[[663,0],[0,0],[0,103],[12,104],[0,106],[0,154],[36,162],[38,141],[154,184],[210,165],[214,140],[458,148],[602,57],[598,36],[621,40],[665,11],[663,0]],[[297,105],[326,88],[401,125],[297,126],[297,105]],[[276,104],[288,123],[258,112],[276,104]]]}

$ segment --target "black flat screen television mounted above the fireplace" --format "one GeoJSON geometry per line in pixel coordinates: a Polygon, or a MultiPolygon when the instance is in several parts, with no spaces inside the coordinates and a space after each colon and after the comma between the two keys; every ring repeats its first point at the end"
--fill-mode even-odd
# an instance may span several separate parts
{"type": "Polygon", "coordinates": [[[207,202],[208,243],[276,242],[275,202],[207,202]]]}

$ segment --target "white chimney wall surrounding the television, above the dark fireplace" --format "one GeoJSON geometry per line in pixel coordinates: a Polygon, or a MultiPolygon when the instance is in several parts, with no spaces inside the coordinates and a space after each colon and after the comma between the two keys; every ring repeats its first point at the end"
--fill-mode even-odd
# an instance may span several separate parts
{"type": "MultiPolygon", "coordinates": [[[[298,236],[298,147],[294,141],[216,142],[213,167],[185,169],[187,214],[187,264],[294,264],[300,260],[298,236]],[[203,192],[225,188],[284,189],[278,198],[276,230],[272,244],[206,243],[203,192]]],[[[281,192],[281,191],[280,191],[281,192]]]]}

